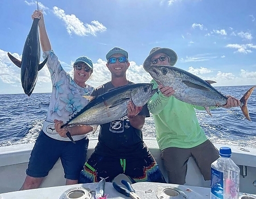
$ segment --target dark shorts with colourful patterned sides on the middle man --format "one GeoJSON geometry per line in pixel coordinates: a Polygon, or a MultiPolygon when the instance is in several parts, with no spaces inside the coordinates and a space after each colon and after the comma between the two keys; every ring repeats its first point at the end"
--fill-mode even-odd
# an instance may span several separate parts
{"type": "Polygon", "coordinates": [[[101,180],[100,177],[108,177],[106,181],[112,182],[121,173],[129,177],[131,183],[166,183],[159,165],[151,154],[144,157],[118,159],[95,153],[85,163],[84,170],[80,173],[79,183],[95,183],[101,180]]]}

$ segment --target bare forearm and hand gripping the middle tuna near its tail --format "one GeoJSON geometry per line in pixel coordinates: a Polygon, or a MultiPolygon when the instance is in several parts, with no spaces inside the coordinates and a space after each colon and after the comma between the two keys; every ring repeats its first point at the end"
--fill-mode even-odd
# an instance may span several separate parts
{"type": "Polygon", "coordinates": [[[67,138],[67,132],[69,131],[71,135],[84,135],[88,134],[88,132],[91,132],[93,129],[91,126],[72,126],[72,127],[64,127],[61,128],[61,126],[64,125],[63,121],[59,121],[57,119],[54,120],[55,124],[55,130],[56,132],[64,138],[67,138]]]}

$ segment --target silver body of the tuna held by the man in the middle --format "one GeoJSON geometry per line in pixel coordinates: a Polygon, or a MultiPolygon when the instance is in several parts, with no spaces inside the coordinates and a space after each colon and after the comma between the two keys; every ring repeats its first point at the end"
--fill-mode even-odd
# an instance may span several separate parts
{"type": "Polygon", "coordinates": [[[130,101],[135,106],[147,103],[156,89],[153,84],[129,84],[109,90],[88,103],[79,113],[74,115],[63,127],[70,125],[102,125],[115,121],[128,113],[130,101]]]}

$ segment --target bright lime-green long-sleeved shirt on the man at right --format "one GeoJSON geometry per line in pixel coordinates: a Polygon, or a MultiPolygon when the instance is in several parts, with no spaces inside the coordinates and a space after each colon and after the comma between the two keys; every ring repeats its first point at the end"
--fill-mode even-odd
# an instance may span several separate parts
{"type": "MultiPolygon", "coordinates": [[[[158,84],[151,81],[153,88],[158,84]]],[[[168,147],[192,148],[207,140],[197,121],[195,109],[205,110],[201,106],[192,106],[175,97],[166,97],[155,93],[148,101],[148,110],[155,120],[156,140],[160,150],[168,147]]]]}

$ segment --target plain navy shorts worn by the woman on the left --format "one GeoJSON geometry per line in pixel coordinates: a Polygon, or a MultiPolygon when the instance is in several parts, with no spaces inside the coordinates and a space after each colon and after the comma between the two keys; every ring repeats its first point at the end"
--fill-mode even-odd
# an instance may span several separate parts
{"type": "Polygon", "coordinates": [[[46,177],[60,157],[65,179],[78,180],[86,160],[88,143],[88,138],[77,140],[76,144],[52,139],[40,131],[31,151],[27,175],[46,177]]]}

